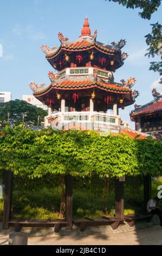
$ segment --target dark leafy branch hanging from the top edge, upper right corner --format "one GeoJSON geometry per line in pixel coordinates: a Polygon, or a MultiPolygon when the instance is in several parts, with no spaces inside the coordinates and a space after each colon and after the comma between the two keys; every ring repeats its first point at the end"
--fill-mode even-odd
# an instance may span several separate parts
{"type": "Polygon", "coordinates": [[[161,0],[108,0],[109,2],[113,1],[115,3],[122,4],[126,8],[140,8],[142,11],[139,13],[140,17],[143,19],[151,19],[151,15],[154,11],[157,11],[160,6],[161,0]]]}

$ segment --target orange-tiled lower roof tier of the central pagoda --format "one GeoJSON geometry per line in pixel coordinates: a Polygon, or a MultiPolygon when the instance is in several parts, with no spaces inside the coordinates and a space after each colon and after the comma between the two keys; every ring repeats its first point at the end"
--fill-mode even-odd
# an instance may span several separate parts
{"type": "Polygon", "coordinates": [[[122,87],[119,83],[103,83],[101,81],[94,81],[90,79],[86,80],[63,80],[55,83],[51,83],[48,87],[43,88],[41,90],[37,90],[34,92],[34,96],[40,96],[48,93],[51,89],[89,89],[89,88],[99,88],[106,90],[108,92],[118,92],[122,94],[130,94],[132,92],[131,89],[122,87]]]}

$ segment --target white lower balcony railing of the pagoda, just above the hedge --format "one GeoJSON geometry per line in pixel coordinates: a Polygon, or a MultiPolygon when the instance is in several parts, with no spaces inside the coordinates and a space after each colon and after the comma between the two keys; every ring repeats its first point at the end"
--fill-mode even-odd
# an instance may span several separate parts
{"type": "Polygon", "coordinates": [[[45,118],[45,127],[58,130],[119,130],[119,115],[100,112],[57,112],[45,118]]]}

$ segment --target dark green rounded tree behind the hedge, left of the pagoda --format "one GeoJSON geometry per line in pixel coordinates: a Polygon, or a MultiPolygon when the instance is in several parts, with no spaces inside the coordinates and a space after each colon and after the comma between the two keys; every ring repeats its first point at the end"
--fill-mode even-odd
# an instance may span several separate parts
{"type": "Polygon", "coordinates": [[[47,112],[42,108],[31,105],[23,100],[11,100],[9,102],[0,103],[0,124],[1,128],[7,123],[11,126],[19,125],[31,126],[40,124],[44,121],[47,112]]]}

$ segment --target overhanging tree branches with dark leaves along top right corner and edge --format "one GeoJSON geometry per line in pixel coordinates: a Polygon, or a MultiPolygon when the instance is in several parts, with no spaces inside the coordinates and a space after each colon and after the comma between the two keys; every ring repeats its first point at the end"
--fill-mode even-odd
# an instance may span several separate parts
{"type": "MultiPolygon", "coordinates": [[[[115,3],[122,4],[126,6],[126,8],[140,8],[142,11],[139,13],[139,16],[142,19],[151,19],[151,15],[158,10],[161,0],[108,0],[109,2],[113,1],[115,3]]],[[[152,32],[151,34],[148,34],[145,36],[146,38],[146,44],[150,46],[147,49],[147,55],[148,57],[152,56],[154,58],[155,55],[160,56],[160,59],[162,60],[162,25],[160,25],[158,22],[155,24],[151,24],[152,26],[152,32]]],[[[159,75],[162,75],[162,61],[160,62],[151,62],[150,63],[150,69],[154,72],[159,72],[159,75]]],[[[160,79],[160,82],[162,84],[162,78],[160,79]]]]}

